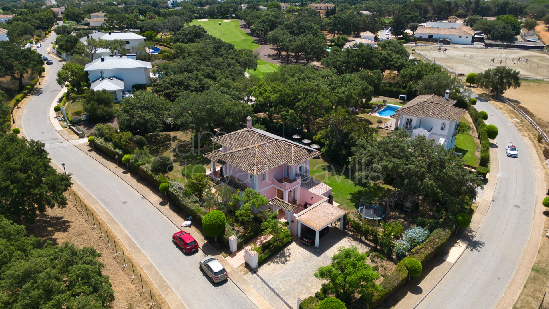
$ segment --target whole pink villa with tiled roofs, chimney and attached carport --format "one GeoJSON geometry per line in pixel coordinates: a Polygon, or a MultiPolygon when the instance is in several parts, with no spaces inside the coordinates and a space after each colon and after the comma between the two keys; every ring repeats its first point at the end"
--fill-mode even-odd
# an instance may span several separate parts
{"type": "Polygon", "coordinates": [[[222,147],[204,154],[211,161],[206,174],[216,183],[240,190],[249,187],[265,196],[268,208],[288,222],[293,235],[301,236],[302,225],[318,234],[337,220],[343,228],[345,211],[333,202],[332,187],[309,176],[309,159],[320,152],[253,128],[251,117],[247,128],[212,141],[222,147]]]}

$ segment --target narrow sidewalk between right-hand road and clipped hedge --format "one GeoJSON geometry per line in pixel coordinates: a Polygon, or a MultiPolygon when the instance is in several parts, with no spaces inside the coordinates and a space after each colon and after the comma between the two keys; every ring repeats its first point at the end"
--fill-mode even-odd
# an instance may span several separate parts
{"type": "Polygon", "coordinates": [[[450,271],[453,264],[467,249],[469,242],[473,240],[474,235],[477,233],[483,222],[484,216],[488,212],[492,196],[494,195],[494,190],[496,189],[498,157],[496,148],[494,147],[490,147],[490,158],[490,178],[488,184],[484,187],[484,195],[480,200],[477,211],[473,214],[471,224],[465,231],[463,231],[460,239],[450,248],[450,251],[446,256],[442,257],[438,262],[436,260],[430,262],[429,264],[433,267],[432,269],[424,269],[421,277],[412,279],[412,284],[408,284],[406,296],[395,306],[396,309],[414,308],[419,301],[423,300],[450,271]],[[421,282],[419,282],[420,280],[421,282]],[[419,284],[413,285],[414,281],[419,282],[419,284]]]}

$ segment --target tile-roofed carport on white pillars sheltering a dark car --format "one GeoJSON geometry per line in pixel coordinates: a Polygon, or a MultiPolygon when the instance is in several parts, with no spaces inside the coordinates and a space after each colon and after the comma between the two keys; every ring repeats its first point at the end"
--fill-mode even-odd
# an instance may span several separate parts
{"type": "Polygon", "coordinates": [[[298,220],[298,237],[301,237],[301,225],[305,225],[316,231],[315,247],[318,248],[318,233],[328,225],[340,220],[339,229],[343,230],[343,216],[345,211],[339,207],[324,201],[315,207],[305,209],[296,217],[298,220]]]}

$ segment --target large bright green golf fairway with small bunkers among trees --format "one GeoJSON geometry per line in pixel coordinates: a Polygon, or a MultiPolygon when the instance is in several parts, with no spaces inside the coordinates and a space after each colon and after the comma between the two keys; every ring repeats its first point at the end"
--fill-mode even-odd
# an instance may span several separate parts
{"type": "Polygon", "coordinates": [[[221,40],[231,43],[234,48],[248,48],[252,51],[259,48],[259,44],[254,42],[254,38],[245,34],[240,29],[240,23],[236,19],[231,19],[228,23],[223,23],[225,19],[208,19],[208,21],[198,21],[195,19],[192,21],[192,25],[203,26],[208,34],[219,37],[221,40]],[[221,25],[219,24],[221,22],[221,25]]]}

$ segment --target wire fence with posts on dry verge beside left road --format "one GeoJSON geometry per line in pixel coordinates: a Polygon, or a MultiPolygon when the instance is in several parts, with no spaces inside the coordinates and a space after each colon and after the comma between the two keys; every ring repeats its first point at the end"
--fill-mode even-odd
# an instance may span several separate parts
{"type": "MultiPolygon", "coordinates": [[[[94,212],[89,203],[82,198],[78,192],[71,187],[67,190],[69,195],[69,201],[73,201],[77,208],[80,208],[80,213],[86,218],[88,223],[91,224],[91,229],[97,231],[99,239],[103,239],[107,245],[107,251],[113,253],[113,258],[117,261],[117,264],[122,268],[122,272],[126,274],[126,277],[131,280],[131,283],[136,286],[139,291],[139,296],[145,297],[149,303],[149,308],[162,309],[169,308],[166,305],[164,297],[159,297],[159,292],[156,288],[150,284],[150,279],[139,267],[137,261],[128,254],[128,251],[122,242],[116,238],[113,231],[108,228],[108,225],[94,212]],[[111,251],[112,250],[112,251],[111,251]]],[[[116,296],[116,295],[115,295],[116,296]]]]}

